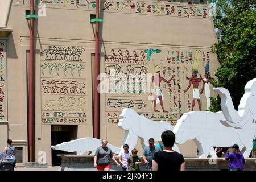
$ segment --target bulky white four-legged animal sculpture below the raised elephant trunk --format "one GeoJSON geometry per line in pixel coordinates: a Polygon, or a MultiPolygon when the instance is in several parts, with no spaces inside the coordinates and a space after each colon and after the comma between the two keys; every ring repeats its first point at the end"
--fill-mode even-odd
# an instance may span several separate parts
{"type": "Polygon", "coordinates": [[[176,143],[183,144],[187,140],[196,143],[199,158],[207,158],[213,146],[230,147],[238,144],[245,158],[253,148],[256,126],[247,130],[226,127],[220,121],[225,117],[222,112],[191,111],[185,113],[174,127],[176,143]],[[245,137],[246,136],[246,137],[245,137]]]}

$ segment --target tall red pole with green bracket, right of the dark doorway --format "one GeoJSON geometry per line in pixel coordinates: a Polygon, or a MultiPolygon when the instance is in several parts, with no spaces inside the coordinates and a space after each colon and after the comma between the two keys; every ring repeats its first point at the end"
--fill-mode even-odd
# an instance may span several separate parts
{"type": "MultiPolygon", "coordinates": [[[[96,18],[99,16],[99,1],[96,0],[96,18]]],[[[95,68],[94,68],[94,127],[93,127],[93,137],[99,138],[99,93],[98,93],[98,73],[99,73],[99,58],[98,58],[98,22],[96,21],[96,31],[95,31],[95,68]]]]}

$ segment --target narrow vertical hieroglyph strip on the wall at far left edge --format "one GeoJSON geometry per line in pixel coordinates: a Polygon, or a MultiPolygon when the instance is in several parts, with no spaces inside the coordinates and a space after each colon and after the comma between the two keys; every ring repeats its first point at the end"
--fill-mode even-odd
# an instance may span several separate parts
{"type": "Polygon", "coordinates": [[[0,39],[0,121],[7,121],[6,40],[0,39]]]}

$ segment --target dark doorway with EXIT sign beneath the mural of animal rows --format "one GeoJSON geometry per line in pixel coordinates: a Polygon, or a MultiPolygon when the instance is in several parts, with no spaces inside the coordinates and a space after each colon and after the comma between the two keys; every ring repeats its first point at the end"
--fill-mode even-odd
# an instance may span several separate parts
{"type": "MultiPolygon", "coordinates": [[[[52,146],[77,139],[77,125],[52,125],[51,139],[52,146]]],[[[58,154],[76,154],[76,152],[52,150],[52,166],[60,166],[61,158],[57,156],[58,154]]]]}

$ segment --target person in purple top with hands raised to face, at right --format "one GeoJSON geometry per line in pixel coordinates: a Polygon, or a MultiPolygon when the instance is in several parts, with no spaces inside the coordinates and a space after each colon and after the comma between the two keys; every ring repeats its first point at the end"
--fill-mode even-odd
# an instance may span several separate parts
{"type": "Polygon", "coordinates": [[[230,160],[229,169],[230,171],[242,171],[243,164],[245,164],[245,158],[239,150],[239,146],[234,144],[226,151],[226,160],[230,160]]]}

